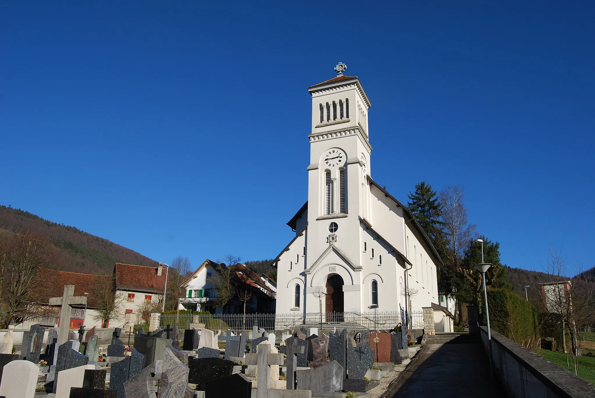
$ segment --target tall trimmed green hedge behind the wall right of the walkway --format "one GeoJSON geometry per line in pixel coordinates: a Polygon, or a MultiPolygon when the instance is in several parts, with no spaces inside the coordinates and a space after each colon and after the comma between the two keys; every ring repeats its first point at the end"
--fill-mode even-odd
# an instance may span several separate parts
{"type": "MultiPolygon", "coordinates": [[[[523,347],[536,346],[539,339],[539,313],[533,304],[506,289],[488,289],[487,301],[490,306],[490,327],[493,330],[523,347]]],[[[483,316],[484,300],[481,300],[480,309],[483,316]]]]}

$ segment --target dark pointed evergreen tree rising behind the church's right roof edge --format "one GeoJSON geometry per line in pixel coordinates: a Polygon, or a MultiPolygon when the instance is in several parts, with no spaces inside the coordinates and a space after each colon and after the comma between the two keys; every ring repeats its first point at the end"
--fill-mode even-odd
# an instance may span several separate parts
{"type": "Polygon", "coordinates": [[[432,239],[439,239],[440,216],[440,202],[436,191],[432,189],[430,184],[421,181],[415,184],[415,192],[409,192],[409,202],[407,206],[419,221],[419,224],[432,239]]]}

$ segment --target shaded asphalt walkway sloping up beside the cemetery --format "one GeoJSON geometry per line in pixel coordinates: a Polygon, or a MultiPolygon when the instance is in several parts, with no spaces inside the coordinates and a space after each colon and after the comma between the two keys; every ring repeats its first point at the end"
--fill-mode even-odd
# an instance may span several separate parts
{"type": "Polygon", "coordinates": [[[474,336],[443,334],[428,339],[386,397],[500,398],[505,393],[490,380],[487,355],[474,336]]]}

